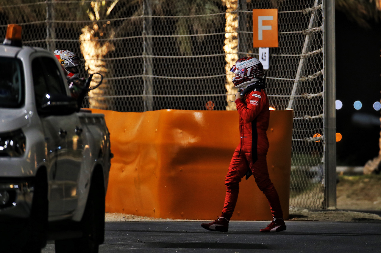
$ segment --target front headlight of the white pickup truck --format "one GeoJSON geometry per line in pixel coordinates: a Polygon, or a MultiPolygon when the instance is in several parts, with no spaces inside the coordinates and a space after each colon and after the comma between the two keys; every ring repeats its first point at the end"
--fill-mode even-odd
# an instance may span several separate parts
{"type": "Polygon", "coordinates": [[[21,157],[25,146],[26,138],[21,129],[0,133],[0,156],[21,157]]]}

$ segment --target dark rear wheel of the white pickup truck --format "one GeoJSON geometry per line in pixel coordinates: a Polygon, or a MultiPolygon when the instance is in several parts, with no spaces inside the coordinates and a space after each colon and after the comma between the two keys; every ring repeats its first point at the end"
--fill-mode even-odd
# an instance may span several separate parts
{"type": "Polygon", "coordinates": [[[98,253],[104,239],[105,193],[103,182],[93,180],[81,220],[83,236],[74,239],[56,240],[56,253],[98,253]]]}

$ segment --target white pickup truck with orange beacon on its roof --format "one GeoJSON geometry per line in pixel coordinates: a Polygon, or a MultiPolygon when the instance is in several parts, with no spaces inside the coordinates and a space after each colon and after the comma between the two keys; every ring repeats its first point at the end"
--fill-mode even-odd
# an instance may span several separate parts
{"type": "Polygon", "coordinates": [[[0,73],[0,252],[41,252],[47,240],[98,252],[112,158],[104,115],[78,109],[53,53],[21,46],[18,25],[0,73]]]}

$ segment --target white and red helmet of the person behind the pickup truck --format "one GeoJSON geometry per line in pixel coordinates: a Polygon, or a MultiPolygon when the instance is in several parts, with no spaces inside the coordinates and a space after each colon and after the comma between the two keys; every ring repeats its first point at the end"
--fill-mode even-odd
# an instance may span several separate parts
{"type": "Polygon", "coordinates": [[[78,56],[66,49],[57,49],[54,51],[54,55],[58,59],[59,63],[61,63],[67,79],[72,80],[74,78],[78,78],[78,66],[83,65],[82,60],[78,56]]]}

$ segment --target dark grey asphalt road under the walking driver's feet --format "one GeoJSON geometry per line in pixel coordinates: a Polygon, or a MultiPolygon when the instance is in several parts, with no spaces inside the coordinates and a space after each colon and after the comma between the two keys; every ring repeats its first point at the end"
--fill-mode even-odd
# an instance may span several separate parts
{"type": "MultiPolygon", "coordinates": [[[[200,221],[108,222],[99,253],[162,252],[381,252],[381,223],[286,221],[287,230],[260,233],[268,221],[231,221],[229,232],[201,228],[200,221]]],[[[49,241],[43,253],[54,252],[49,241]]]]}

